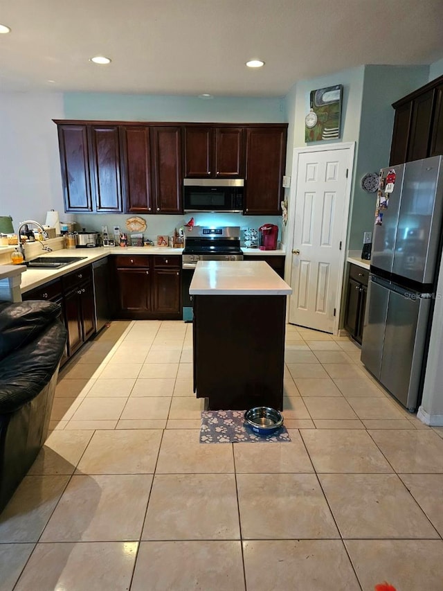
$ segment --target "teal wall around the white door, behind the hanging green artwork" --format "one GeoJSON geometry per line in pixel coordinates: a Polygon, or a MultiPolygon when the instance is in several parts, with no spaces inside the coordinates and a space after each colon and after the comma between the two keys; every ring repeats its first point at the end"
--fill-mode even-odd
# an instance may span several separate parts
{"type": "MultiPolygon", "coordinates": [[[[389,161],[394,109],[392,103],[426,84],[428,66],[361,66],[329,76],[303,80],[286,96],[289,121],[287,175],[291,175],[293,148],[332,142],[305,143],[305,116],[309,112],[309,92],[343,84],[342,136],[338,142],[356,143],[348,227],[349,250],[361,250],[363,232],[372,231],[375,197],[360,186],[361,177],[377,172],[389,161]]],[[[288,195],[288,193],[287,193],[288,195]]]]}

